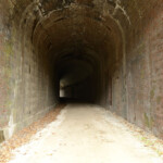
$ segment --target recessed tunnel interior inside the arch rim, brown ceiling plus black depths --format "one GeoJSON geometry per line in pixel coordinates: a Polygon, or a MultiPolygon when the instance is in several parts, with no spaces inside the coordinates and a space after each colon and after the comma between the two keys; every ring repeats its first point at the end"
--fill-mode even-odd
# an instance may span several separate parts
{"type": "Polygon", "coordinates": [[[123,58],[121,32],[113,20],[110,22],[104,24],[97,11],[84,5],[51,12],[35,27],[33,45],[51,65],[47,73],[52,74],[58,101],[106,100],[105,77],[123,58]]]}

